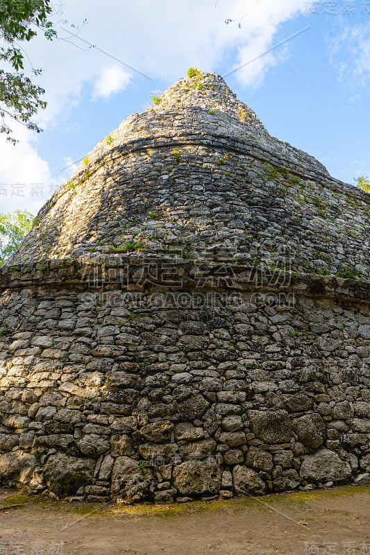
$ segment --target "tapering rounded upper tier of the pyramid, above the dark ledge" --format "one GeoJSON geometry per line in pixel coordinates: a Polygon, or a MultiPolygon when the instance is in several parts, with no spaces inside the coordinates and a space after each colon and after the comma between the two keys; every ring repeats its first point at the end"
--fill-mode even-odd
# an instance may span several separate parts
{"type": "Polygon", "coordinates": [[[351,259],[369,275],[353,239],[368,202],[271,137],[221,76],[193,70],[96,145],[10,264],[144,255],[333,273],[351,259]],[[341,213],[343,237],[332,221],[341,213]]]}

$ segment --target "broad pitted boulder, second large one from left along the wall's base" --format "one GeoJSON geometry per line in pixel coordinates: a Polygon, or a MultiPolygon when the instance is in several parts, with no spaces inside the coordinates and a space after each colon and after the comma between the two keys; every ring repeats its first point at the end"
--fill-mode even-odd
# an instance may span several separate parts
{"type": "Polygon", "coordinates": [[[78,459],[67,454],[49,456],[44,467],[44,480],[57,495],[72,495],[92,481],[95,461],[78,459]]]}

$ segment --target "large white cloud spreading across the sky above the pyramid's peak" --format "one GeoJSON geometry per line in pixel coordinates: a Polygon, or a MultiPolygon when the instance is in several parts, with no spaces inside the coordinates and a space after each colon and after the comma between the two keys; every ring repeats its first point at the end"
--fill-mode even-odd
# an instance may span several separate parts
{"type": "MultiPolygon", "coordinates": [[[[60,40],[45,46],[42,37],[28,45],[31,59],[44,68],[41,84],[47,90],[48,109],[42,124],[66,117],[72,101],[78,100],[85,84],[92,86],[92,98],[107,98],[128,85],[129,76],[138,79],[136,68],[154,80],[171,82],[190,66],[220,72],[225,60],[233,58],[227,73],[260,56],[273,44],[278,26],[303,12],[305,0],[110,0],[106,8],[87,0],[64,0],[66,19],[78,25],[78,32],[62,24],[83,41],[60,29],[60,40]],[[232,22],[225,24],[226,19],[232,22]],[[241,27],[239,28],[239,24],[241,27]],[[113,61],[114,60],[114,61],[113,61]],[[121,65],[119,63],[121,60],[121,65]]],[[[246,85],[261,83],[261,77],[276,62],[281,51],[262,56],[238,71],[246,85]]]]}

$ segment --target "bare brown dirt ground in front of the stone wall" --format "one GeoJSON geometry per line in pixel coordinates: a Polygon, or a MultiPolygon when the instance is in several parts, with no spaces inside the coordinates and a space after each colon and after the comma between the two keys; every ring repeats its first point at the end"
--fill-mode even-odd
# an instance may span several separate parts
{"type": "Polygon", "coordinates": [[[57,503],[0,490],[0,555],[215,550],[226,555],[370,555],[370,487],[136,507],[57,503]]]}

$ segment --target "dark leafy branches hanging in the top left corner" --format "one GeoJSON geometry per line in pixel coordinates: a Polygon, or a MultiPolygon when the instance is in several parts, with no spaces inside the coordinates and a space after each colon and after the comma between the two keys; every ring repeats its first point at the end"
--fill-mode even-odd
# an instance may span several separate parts
{"type": "MultiPolygon", "coordinates": [[[[41,131],[31,119],[38,110],[46,108],[47,103],[40,99],[45,91],[23,73],[26,53],[19,42],[30,41],[38,31],[42,31],[49,40],[56,37],[56,31],[48,20],[51,11],[50,0],[0,1],[0,39],[3,43],[0,60],[10,69],[0,69],[0,133],[8,135],[8,141],[13,144],[17,141],[11,136],[7,117],[37,133],[41,131]]],[[[31,72],[37,76],[41,70],[31,69],[31,72]]]]}

